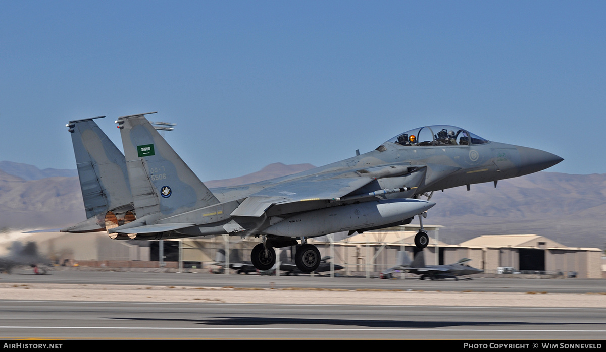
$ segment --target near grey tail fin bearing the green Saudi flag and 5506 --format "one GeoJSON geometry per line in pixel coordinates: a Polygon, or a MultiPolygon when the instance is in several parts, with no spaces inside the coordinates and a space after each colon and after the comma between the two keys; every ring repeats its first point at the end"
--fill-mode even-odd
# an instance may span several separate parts
{"type": "Polygon", "coordinates": [[[167,217],[219,203],[144,115],[116,120],[137,218],[167,217]]]}

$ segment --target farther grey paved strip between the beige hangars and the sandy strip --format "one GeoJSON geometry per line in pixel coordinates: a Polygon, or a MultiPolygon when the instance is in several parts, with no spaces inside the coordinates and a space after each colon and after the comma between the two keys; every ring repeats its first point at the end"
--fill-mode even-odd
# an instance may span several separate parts
{"type": "Polygon", "coordinates": [[[162,285],[188,287],[250,287],[275,288],[315,287],[356,290],[471,291],[471,292],[547,292],[547,293],[604,293],[604,279],[452,279],[430,281],[419,279],[327,278],[311,276],[221,275],[208,273],[155,272],[88,272],[53,271],[52,275],[0,275],[1,282],[21,284],[90,284],[90,285],[162,285]]]}

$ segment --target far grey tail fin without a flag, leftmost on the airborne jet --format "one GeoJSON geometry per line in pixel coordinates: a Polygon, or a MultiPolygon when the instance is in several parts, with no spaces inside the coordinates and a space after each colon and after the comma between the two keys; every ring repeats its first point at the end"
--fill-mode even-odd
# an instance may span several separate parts
{"type": "Polygon", "coordinates": [[[93,121],[100,117],[72,120],[65,125],[72,134],[88,220],[62,229],[62,232],[104,230],[106,214],[116,218],[115,224],[110,224],[110,227],[118,226],[118,221],[125,217],[129,221],[135,217],[124,155],[93,121]]]}

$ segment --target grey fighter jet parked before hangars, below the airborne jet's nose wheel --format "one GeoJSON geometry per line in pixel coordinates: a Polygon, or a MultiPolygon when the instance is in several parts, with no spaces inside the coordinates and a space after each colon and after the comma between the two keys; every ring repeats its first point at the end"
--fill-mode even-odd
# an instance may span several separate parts
{"type": "Polygon", "coordinates": [[[421,280],[424,280],[426,278],[429,278],[431,280],[447,278],[458,280],[457,276],[473,275],[484,272],[484,270],[476,269],[468,266],[467,264],[464,264],[468,261],[471,261],[471,259],[462,258],[454,264],[442,266],[426,266],[425,256],[422,250],[419,250],[419,252],[416,253],[415,260],[413,260],[412,262],[408,258],[407,253],[401,250],[400,252],[398,252],[398,266],[385,270],[381,273],[380,276],[382,279],[388,279],[393,276],[394,272],[404,271],[407,273],[421,275],[419,277],[419,279],[421,280]]]}

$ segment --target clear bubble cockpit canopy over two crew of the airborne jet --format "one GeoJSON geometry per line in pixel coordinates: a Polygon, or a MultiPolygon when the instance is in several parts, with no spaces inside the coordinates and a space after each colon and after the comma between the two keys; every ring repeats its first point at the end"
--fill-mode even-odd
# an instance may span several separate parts
{"type": "Polygon", "coordinates": [[[410,131],[396,135],[396,137],[387,142],[417,147],[478,145],[488,143],[488,140],[456,126],[434,125],[411,129],[410,131]]]}

